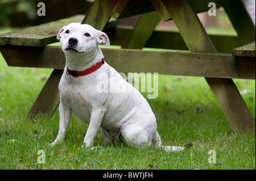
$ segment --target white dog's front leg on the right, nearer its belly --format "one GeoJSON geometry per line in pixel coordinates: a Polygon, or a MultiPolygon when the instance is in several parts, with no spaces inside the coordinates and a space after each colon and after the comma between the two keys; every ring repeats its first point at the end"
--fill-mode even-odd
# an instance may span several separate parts
{"type": "Polygon", "coordinates": [[[98,132],[98,129],[100,129],[100,127],[101,127],[101,122],[102,122],[105,112],[106,111],[104,111],[102,109],[92,110],[92,113],[90,115],[89,127],[87,129],[87,132],[86,132],[85,138],[84,138],[86,147],[93,145],[93,142],[94,142],[94,139],[98,132]]]}

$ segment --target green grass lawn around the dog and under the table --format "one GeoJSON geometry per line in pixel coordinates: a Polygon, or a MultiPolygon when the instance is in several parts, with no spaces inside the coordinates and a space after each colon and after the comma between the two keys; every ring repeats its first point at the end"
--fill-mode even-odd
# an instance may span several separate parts
{"type": "MultiPolygon", "coordinates": [[[[82,149],[88,125],[74,113],[65,140],[51,147],[58,111],[52,117],[26,117],[51,71],[9,67],[0,54],[0,169],[255,169],[255,132],[233,132],[200,77],[159,75],[158,98],[148,99],[163,145],[191,142],[188,150],[105,144],[100,132],[95,149],[82,149]]],[[[255,81],[234,82],[255,117],[255,81]]]]}

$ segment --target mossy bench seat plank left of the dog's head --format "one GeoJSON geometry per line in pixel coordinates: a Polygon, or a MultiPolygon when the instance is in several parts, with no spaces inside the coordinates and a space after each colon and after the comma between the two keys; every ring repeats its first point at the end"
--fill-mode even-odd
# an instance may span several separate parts
{"type": "Polygon", "coordinates": [[[76,15],[39,26],[3,33],[0,35],[0,45],[41,47],[55,43],[57,42],[56,35],[61,27],[72,22],[81,22],[83,18],[84,15],[76,15]]]}

